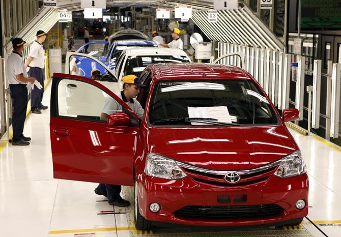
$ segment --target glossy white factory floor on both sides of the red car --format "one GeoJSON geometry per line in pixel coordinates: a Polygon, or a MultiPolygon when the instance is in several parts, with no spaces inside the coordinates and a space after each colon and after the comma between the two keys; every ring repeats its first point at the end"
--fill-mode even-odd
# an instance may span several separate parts
{"type": "MultiPolygon", "coordinates": [[[[49,95],[50,86],[43,104],[49,105],[49,95]]],[[[30,146],[7,143],[0,153],[0,236],[71,237],[81,231],[96,232],[96,237],[129,236],[124,209],[115,209],[121,214],[98,215],[114,210],[101,201],[105,198],[94,194],[97,184],[53,179],[49,112],[48,109],[42,114],[31,114],[26,120],[24,134],[32,137],[30,146]]],[[[320,228],[328,236],[339,236],[341,152],[312,136],[291,132],[308,168],[312,206],[308,217],[318,223],[334,223],[320,228]]],[[[305,226],[320,236],[311,225],[305,226]]]]}

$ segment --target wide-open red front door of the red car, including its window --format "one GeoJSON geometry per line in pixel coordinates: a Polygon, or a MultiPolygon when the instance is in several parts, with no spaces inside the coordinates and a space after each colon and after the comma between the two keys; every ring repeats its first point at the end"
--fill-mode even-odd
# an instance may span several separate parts
{"type": "Polygon", "coordinates": [[[53,75],[50,138],[56,179],[132,186],[138,131],[137,115],[101,83],[53,75]],[[122,105],[129,125],[110,126],[100,120],[107,100],[122,105]]]}

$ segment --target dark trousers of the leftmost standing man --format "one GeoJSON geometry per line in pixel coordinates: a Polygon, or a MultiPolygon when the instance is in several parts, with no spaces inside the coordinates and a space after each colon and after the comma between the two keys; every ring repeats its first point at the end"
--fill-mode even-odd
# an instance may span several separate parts
{"type": "Polygon", "coordinates": [[[10,84],[12,98],[13,141],[17,142],[23,136],[27,109],[27,87],[25,84],[10,84]]]}

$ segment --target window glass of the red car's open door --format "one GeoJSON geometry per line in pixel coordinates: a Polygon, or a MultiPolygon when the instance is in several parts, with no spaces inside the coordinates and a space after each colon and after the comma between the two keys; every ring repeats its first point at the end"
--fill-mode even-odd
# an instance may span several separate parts
{"type": "Polygon", "coordinates": [[[58,115],[76,120],[106,123],[101,113],[125,112],[122,105],[99,87],[86,81],[62,79],[58,84],[58,115]]]}

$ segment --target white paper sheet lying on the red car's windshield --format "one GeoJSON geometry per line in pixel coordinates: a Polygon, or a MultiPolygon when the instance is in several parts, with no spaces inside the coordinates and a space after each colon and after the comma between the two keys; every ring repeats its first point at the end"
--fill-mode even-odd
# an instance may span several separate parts
{"type": "MultiPolygon", "coordinates": [[[[228,107],[212,106],[212,107],[187,107],[188,116],[191,117],[210,117],[217,119],[217,122],[232,123],[228,107]]],[[[191,123],[192,125],[203,125],[202,123],[191,123]]]]}

